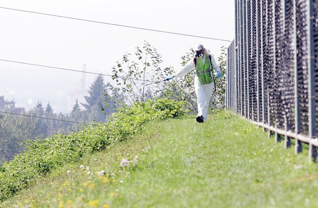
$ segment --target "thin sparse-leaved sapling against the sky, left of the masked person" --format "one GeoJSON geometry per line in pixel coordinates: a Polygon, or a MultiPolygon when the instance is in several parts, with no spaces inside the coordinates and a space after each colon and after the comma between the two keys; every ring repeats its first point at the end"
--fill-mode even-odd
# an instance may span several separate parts
{"type": "Polygon", "coordinates": [[[116,62],[112,79],[116,81],[116,89],[123,92],[126,102],[145,101],[158,97],[165,84],[158,83],[170,75],[171,68],[162,68],[162,56],[146,41],[142,48],[136,47],[134,58],[131,53],[123,56],[122,62],[116,62]]]}

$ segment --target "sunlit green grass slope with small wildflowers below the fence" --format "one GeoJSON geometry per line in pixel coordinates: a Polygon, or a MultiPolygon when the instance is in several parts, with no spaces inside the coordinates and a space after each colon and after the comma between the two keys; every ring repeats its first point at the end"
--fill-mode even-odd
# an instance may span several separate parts
{"type": "Polygon", "coordinates": [[[316,207],[318,165],[306,151],[295,156],[227,112],[202,124],[154,121],[134,139],[38,178],[1,207],[316,207]],[[122,167],[124,158],[131,162],[122,167]]]}

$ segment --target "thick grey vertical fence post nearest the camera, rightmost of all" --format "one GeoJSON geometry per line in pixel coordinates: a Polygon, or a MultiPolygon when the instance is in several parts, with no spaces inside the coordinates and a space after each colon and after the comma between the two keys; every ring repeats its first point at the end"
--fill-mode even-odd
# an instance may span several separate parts
{"type": "Polygon", "coordinates": [[[307,41],[308,41],[308,131],[309,131],[309,162],[311,163],[311,158],[314,158],[316,161],[316,148],[312,146],[311,141],[316,135],[315,128],[315,88],[314,88],[314,43],[313,43],[313,3],[312,0],[307,0],[307,24],[308,24],[308,33],[307,33],[307,41]]]}

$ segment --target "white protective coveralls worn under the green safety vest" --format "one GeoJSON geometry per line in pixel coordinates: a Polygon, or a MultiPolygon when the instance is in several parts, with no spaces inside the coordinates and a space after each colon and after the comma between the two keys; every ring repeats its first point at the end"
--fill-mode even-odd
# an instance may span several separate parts
{"type": "MultiPolygon", "coordinates": [[[[197,57],[196,59],[201,59],[202,63],[205,63],[205,59],[209,59],[208,54],[206,53],[202,58],[197,57]]],[[[197,61],[196,61],[197,63],[197,61]]],[[[213,55],[211,55],[211,64],[215,72],[220,71],[220,67],[216,64],[213,55]]],[[[189,61],[183,68],[176,71],[174,77],[181,77],[182,75],[187,74],[195,68],[194,59],[189,61]]],[[[195,75],[194,78],[194,89],[197,97],[197,116],[203,116],[204,121],[207,121],[208,118],[208,107],[212,92],[214,90],[214,82],[209,84],[200,84],[200,81],[195,75]]]]}

